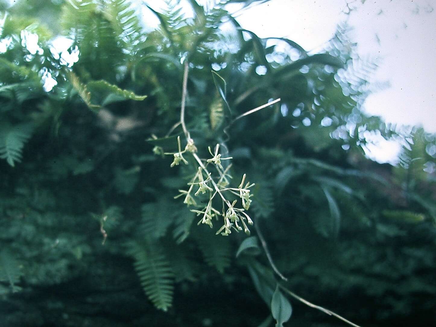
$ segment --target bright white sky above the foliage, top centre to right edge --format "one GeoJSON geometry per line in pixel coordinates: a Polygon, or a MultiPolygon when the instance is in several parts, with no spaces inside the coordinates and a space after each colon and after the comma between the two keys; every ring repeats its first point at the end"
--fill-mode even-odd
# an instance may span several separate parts
{"type": "MultiPolygon", "coordinates": [[[[348,20],[354,27],[352,41],[363,58],[381,59],[373,81],[391,85],[368,97],[366,112],[392,123],[422,124],[436,133],[433,6],[427,0],[363,2],[356,1],[348,20]]],[[[316,51],[346,19],[344,10],[345,0],[271,0],[244,10],[237,19],[259,37],[287,37],[316,51]]]]}

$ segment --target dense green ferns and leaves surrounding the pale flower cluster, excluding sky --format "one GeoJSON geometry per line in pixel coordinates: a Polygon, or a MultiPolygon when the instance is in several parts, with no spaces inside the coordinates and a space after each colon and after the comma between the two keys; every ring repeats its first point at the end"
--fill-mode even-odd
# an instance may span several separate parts
{"type": "Polygon", "coordinates": [[[1,12],[2,326],[345,324],[289,290],[363,326],[436,323],[435,136],[361,112],[376,65],[346,34],[310,54],[242,30],[224,3],[189,3],[192,17],[175,0],[144,8],[151,31],[129,0],[1,12]],[[219,235],[207,189],[174,199],[207,175],[190,151],[171,164],[187,144],[181,62],[187,129],[250,237],[234,228],[242,209],[219,235]],[[398,167],[364,157],[374,136],[402,143],[398,167]],[[216,144],[232,157],[221,168],[216,144]],[[208,201],[213,229],[197,217],[208,201]]]}

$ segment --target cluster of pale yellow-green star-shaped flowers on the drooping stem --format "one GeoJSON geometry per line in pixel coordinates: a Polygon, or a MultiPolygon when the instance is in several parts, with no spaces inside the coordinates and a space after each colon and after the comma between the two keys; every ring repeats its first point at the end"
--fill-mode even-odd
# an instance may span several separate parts
{"type": "Polygon", "coordinates": [[[178,152],[164,153],[166,155],[174,156],[174,160],[170,167],[180,164],[181,161],[184,164],[188,164],[188,161],[183,157],[185,152],[191,152],[199,166],[194,177],[189,183],[187,183],[189,188],[187,190],[179,190],[180,194],[174,198],[184,197],[184,204],[196,207],[191,211],[196,213],[197,216],[201,216],[197,225],[206,224],[213,228],[212,221],[214,219],[219,220],[221,217],[224,223],[221,228],[218,229],[218,232],[216,232],[217,235],[221,234],[227,236],[232,232],[232,229],[237,232],[244,230],[245,234],[250,235],[247,224],[253,225],[253,221],[245,211],[249,209],[252,202],[250,199],[252,197],[252,194],[250,194],[250,187],[254,184],[245,183],[246,175],[244,174],[238,187],[228,187],[230,184],[229,179],[232,179],[232,176],[229,174],[232,165],[229,164],[224,169],[221,160],[229,160],[232,159],[232,157],[222,158],[219,153],[219,144],[215,146],[214,152],[212,152],[211,147],[209,146],[208,150],[212,157],[203,160],[197,156],[197,147],[191,138],[187,140],[187,145],[183,151],[181,150],[180,137],[177,137],[177,145],[178,152]],[[208,171],[209,165],[215,167],[218,174],[212,176],[212,173],[208,171]],[[195,201],[196,197],[208,197],[206,206],[202,207],[201,205],[198,205],[197,201],[195,201]],[[238,199],[231,201],[228,200],[229,197],[240,198],[242,208],[238,208],[237,206],[238,199]],[[221,210],[214,208],[214,204],[217,202],[219,203],[219,200],[221,200],[221,210]]]}

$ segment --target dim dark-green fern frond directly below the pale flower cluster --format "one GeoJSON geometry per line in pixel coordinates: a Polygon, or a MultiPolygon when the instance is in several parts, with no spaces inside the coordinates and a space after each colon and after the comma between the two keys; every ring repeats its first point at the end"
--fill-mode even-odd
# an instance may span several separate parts
{"type": "Polygon", "coordinates": [[[230,266],[231,247],[228,239],[219,236],[196,235],[195,237],[204,261],[218,272],[223,273],[224,269],[230,266]]]}

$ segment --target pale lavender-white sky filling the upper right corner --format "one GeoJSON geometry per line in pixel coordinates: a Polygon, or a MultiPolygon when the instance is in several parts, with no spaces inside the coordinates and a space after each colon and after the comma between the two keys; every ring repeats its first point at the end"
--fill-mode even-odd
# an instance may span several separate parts
{"type": "Polygon", "coordinates": [[[350,22],[356,26],[356,40],[361,40],[359,51],[381,58],[373,80],[391,84],[368,97],[365,111],[388,122],[422,125],[436,133],[436,15],[422,3],[417,13],[413,3],[378,4],[378,12],[383,11],[379,15],[370,3],[360,13],[367,14],[368,22],[363,24],[357,14],[350,22]]]}

